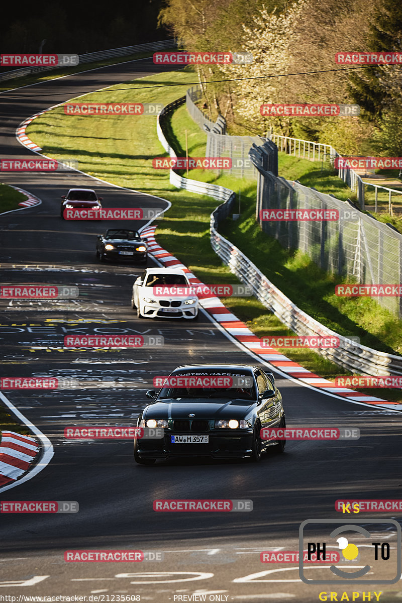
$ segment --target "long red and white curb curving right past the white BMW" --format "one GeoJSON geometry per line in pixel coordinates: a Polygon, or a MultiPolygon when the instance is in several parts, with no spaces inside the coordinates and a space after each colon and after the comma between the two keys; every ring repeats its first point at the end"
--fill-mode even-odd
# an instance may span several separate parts
{"type": "MultiPolygon", "coordinates": [[[[146,226],[141,229],[141,235],[148,240],[148,250],[156,260],[162,262],[165,267],[181,268],[187,273],[187,277],[191,283],[203,284],[197,279],[190,270],[181,264],[177,257],[160,247],[155,241],[156,226],[146,226]]],[[[313,389],[318,388],[323,393],[332,397],[342,397],[350,400],[350,402],[359,403],[360,405],[380,406],[392,410],[402,410],[402,404],[398,402],[390,402],[375,396],[368,396],[359,391],[350,390],[347,387],[336,387],[336,385],[312,373],[307,368],[303,368],[297,362],[294,362],[287,356],[284,356],[278,350],[272,347],[262,347],[260,338],[255,335],[247,326],[230,312],[219,300],[218,297],[209,297],[200,301],[200,305],[215,320],[219,326],[223,327],[224,332],[230,336],[235,342],[245,347],[248,352],[257,356],[261,361],[268,363],[272,368],[275,368],[278,373],[281,373],[285,378],[295,379],[302,382],[313,389]],[[386,405],[386,406],[385,406],[386,405]]]]}

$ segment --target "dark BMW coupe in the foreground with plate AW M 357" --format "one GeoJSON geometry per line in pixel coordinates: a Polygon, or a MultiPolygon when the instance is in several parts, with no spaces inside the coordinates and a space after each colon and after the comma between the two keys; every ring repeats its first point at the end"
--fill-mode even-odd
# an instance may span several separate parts
{"type": "Polygon", "coordinates": [[[159,392],[147,391],[153,401],[137,422],[143,428],[163,428],[163,439],[136,438],[137,463],[189,456],[259,461],[272,445],[283,452],[285,440],[260,438],[262,428],[286,426],[272,373],[251,365],[190,364],[176,368],[168,378],[159,392]],[[221,384],[214,387],[217,377],[221,384]],[[230,387],[222,387],[223,377],[231,379],[224,382],[230,387]]]}

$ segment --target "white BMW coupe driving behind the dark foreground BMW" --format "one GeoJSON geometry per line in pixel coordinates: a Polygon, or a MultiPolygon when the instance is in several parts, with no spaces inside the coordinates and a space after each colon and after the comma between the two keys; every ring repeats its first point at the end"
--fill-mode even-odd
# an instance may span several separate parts
{"type": "Polygon", "coordinates": [[[198,318],[198,297],[183,270],[146,268],[133,285],[131,308],[139,318],[198,318]]]}

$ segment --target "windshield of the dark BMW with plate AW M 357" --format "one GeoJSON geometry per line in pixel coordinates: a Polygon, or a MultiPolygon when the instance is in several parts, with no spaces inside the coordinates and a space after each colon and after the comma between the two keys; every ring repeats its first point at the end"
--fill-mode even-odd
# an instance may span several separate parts
{"type": "Polygon", "coordinates": [[[169,385],[185,384],[186,387],[162,387],[158,399],[162,398],[185,398],[185,399],[216,399],[224,400],[256,400],[254,382],[250,373],[229,373],[222,371],[203,371],[201,373],[174,373],[169,377],[169,385]],[[177,377],[186,379],[177,380],[177,377]],[[190,379],[191,377],[191,379],[190,379]],[[224,380],[223,378],[226,377],[224,380]],[[246,387],[253,384],[252,387],[246,387]],[[231,387],[221,387],[222,384],[231,384],[231,387]],[[196,385],[196,387],[191,387],[196,385]]]}

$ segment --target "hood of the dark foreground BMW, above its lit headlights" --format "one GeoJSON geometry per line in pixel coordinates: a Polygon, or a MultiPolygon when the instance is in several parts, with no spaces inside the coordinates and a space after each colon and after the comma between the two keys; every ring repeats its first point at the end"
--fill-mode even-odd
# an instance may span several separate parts
{"type": "Polygon", "coordinates": [[[256,403],[250,400],[166,399],[146,407],[145,418],[243,418],[256,403]],[[189,417],[189,414],[195,417],[189,417]]]}

